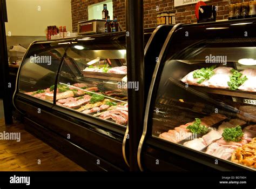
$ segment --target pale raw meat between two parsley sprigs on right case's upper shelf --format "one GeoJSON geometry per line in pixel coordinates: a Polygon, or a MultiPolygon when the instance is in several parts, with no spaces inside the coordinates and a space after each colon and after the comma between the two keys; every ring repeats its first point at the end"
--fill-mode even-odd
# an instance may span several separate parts
{"type": "MultiPolygon", "coordinates": [[[[231,75],[231,74],[230,74],[231,75]]],[[[230,75],[228,74],[216,74],[208,80],[208,86],[212,88],[228,89],[227,82],[230,81],[230,75]]]]}

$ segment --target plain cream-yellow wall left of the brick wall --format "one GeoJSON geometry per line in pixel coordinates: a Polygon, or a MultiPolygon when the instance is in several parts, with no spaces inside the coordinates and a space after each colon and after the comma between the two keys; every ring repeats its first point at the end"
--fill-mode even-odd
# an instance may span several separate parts
{"type": "Polygon", "coordinates": [[[6,35],[46,36],[49,25],[72,32],[71,0],[6,0],[6,6],[6,35]]]}

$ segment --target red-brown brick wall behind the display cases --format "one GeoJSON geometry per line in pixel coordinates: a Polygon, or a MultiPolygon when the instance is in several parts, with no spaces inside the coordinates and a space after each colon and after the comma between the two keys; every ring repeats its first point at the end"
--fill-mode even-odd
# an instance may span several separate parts
{"type": "MultiPolygon", "coordinates": [[[[87,6],[103,1],[104,0],[71,0],[73,32],[77,32],[77,23],[79,21],[88,19],[87,6]]],[[[228,18],[228,4],[232,1],[236,0],[212,0],[206,2],[206,4],[218,6],[216,18],[220,20],[228,18]]],[[[197,22],[196,16],[194,15],[194,6],[195,4],[191,4],[175,8],[173,0],[144,0],[144,28],[156,27],[157,14],[164,10],[176,11],[176,23],[197,22]]],[[[125,0],[113,0],[113,14],[117,15],[119,24],[125,29],[125,0]]]]}

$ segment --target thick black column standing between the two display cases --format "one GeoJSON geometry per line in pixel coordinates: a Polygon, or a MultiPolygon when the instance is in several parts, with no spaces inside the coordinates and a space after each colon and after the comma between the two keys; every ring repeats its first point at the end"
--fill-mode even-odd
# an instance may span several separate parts
{"type": "Polygon", "coordinates": [[[125,9],[127,81],[139,84],[138,91],[128,89],[130,171],[139,171],[137,151],[144,119],[143,0],[126,0],[125,9]]]}

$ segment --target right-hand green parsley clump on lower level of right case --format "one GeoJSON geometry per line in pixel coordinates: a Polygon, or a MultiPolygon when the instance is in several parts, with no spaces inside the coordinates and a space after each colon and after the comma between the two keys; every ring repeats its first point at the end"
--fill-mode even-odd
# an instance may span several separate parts
{"type": "Polygon", "coordinates": [[[222,134],[224,140],[239,142],[242,140],[244,133],[242,132],[241,126],[236,126],[232,128],[225,128],[222,134]]]}

